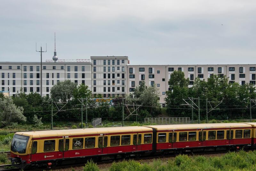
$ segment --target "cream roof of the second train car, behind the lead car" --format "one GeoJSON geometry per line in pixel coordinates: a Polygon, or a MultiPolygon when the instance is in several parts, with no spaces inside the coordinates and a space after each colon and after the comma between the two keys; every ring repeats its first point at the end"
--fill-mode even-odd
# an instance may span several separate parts
{"type": "Polygon", "coordinates": [[[177,125],[147,125],[145,127],[154,128],[156,130],[184,130],[184,129],[237,128],[237,127],[250,128],[252,126],[245,123],[201,123],[201,124],[177,124],[177,125]]]}

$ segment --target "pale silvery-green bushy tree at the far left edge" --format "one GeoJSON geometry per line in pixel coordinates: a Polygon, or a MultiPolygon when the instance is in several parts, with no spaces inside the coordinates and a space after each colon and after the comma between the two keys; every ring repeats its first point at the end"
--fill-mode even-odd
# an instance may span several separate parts
{"type": "Polygon", "coordinates": [[[15,106],[12,98],[0,98],[1,127],[10,125],[14,122],[26,122],[26,120],[26,117],[23,115],[23,108],[15,106]]]}

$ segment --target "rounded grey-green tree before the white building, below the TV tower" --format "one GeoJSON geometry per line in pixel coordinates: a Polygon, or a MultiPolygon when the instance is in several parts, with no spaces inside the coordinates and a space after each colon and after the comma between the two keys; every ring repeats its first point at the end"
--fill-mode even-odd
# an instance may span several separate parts
{"type": "Polygon", "coordinates": [[[60,81],[51,88],[51,97],[54,101],[69,102],[74,97],[77,84],[69,79],[60,81]]]}

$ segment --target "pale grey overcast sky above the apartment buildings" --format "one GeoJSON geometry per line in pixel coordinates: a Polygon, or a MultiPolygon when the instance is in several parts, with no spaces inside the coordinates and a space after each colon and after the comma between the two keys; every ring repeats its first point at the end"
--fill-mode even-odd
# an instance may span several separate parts
{"type": "Polygon", "coordinates": [[[130,64],[254,64],[255,0],[1,0],[0,62],[128,56],[130,64]]]}

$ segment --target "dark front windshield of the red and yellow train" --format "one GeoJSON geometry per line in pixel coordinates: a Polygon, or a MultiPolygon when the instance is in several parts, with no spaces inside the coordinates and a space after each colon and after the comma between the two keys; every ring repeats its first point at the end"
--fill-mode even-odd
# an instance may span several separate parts
{"type": "Polygon", "coordinates": [[[11,150],[13,152],[25,153],[28,144],[28,136],[15,134],[12,139],[11,150]]]}

